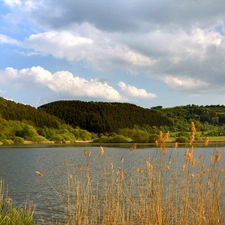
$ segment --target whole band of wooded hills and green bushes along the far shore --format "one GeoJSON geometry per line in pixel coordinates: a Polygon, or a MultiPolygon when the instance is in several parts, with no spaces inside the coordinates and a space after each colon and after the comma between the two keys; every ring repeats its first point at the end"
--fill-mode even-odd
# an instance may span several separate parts
{"type": "Polygon", "coordinates": [[[0,142],[152,143],[160,131],[170,131],[172,139],[186,142],[192,121],[199,140],[225,136],[224,117],[221,105],[144,109],[129,103],[57,101],[36,109],[0,97],[0,142]]]}

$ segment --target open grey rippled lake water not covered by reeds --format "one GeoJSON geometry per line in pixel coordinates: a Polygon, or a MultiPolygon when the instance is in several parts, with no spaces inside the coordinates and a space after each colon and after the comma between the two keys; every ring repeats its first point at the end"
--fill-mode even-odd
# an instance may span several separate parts
{"type": "MultiPolygon", "coordinates": [[[[88,161],[92,170],[95,170],[93,173],[98,174],[100,166],[107,166],[111,162],[118,168],[121,166],[121,157],[124,157],[124,170],[132,175],[135,167],[145,165],[148,154],[152,156],[158,149],[138,145],[137,150],[130,154],[130,146],[104,146],[105,154],[101,160],[98,160],[99,146],[1,146],[0,177],[5,186],[8,186],[9,196],[16,206],[21,206],[26,201],[33,203],[35,218],[40,223],[44,221],[45,224],[50,224],[55,220],[63,220],[64,217],[63,200],[60,198],[64,197],[67,190],[68,171],[65,162],[73,171],[79,164],[84,166],[88,161]],[[84,149],[91,152],[90,157],[84,157],[84,149]],[[43,177],[37,176],[36,171],[40,171],[43,177]]],[[[176,150],[180,152],[182,159],[185,149],[187,147],[176,150]]],[[[203,153],[209,158],[215,149],[215,146],[198,147],[195,148],[195,154],[203,153]]],[[[219,149],[221,161],[224,161],[225,147],[219,146],[219,149]]],[[[170,152],[174,152],[174,149],[167,148],[168,155],[170,152]]]]}

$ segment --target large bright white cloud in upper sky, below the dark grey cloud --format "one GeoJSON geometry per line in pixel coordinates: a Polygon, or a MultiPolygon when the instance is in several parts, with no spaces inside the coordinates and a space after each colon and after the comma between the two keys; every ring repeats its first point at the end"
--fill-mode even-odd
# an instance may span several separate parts
{"type": "Polygon", "coordinates": [[[32,54],[51,54],[72,62],[91,65],[96,70],[121,69],[138,72],[137,68],[155,63],[151,57],[129,49],[90,24],[74,27],[74,31],[48,31],[33,34],[21,43],[32,54]]]}

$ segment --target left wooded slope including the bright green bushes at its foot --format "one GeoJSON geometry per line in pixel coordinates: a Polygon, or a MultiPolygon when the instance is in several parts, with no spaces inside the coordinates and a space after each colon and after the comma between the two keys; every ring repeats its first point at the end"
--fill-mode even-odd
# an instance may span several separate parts
{"type": "Polygon", "coordinates": [[[0,142],[3,144],[23,144],[25,140],[66,143],[91,140],[93,135],[43,110],[0,97],[0,142]]]}

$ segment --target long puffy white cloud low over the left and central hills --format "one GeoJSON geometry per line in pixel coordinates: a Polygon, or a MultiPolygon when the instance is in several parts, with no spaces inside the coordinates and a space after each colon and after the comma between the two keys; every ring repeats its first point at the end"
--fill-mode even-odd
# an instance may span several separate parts
{"type": "Polygon", "coordinates": [[[0,83],[23,90],[29,88],[32,90],[48,89],[61,98],[89,97],[106,101],[125,100],[118,91],[106,82],[74,77],[68,71],[58,71],[52,74],[42,67],[22,70],[8,67],[4,71],[0,71],[0,83]]]}

